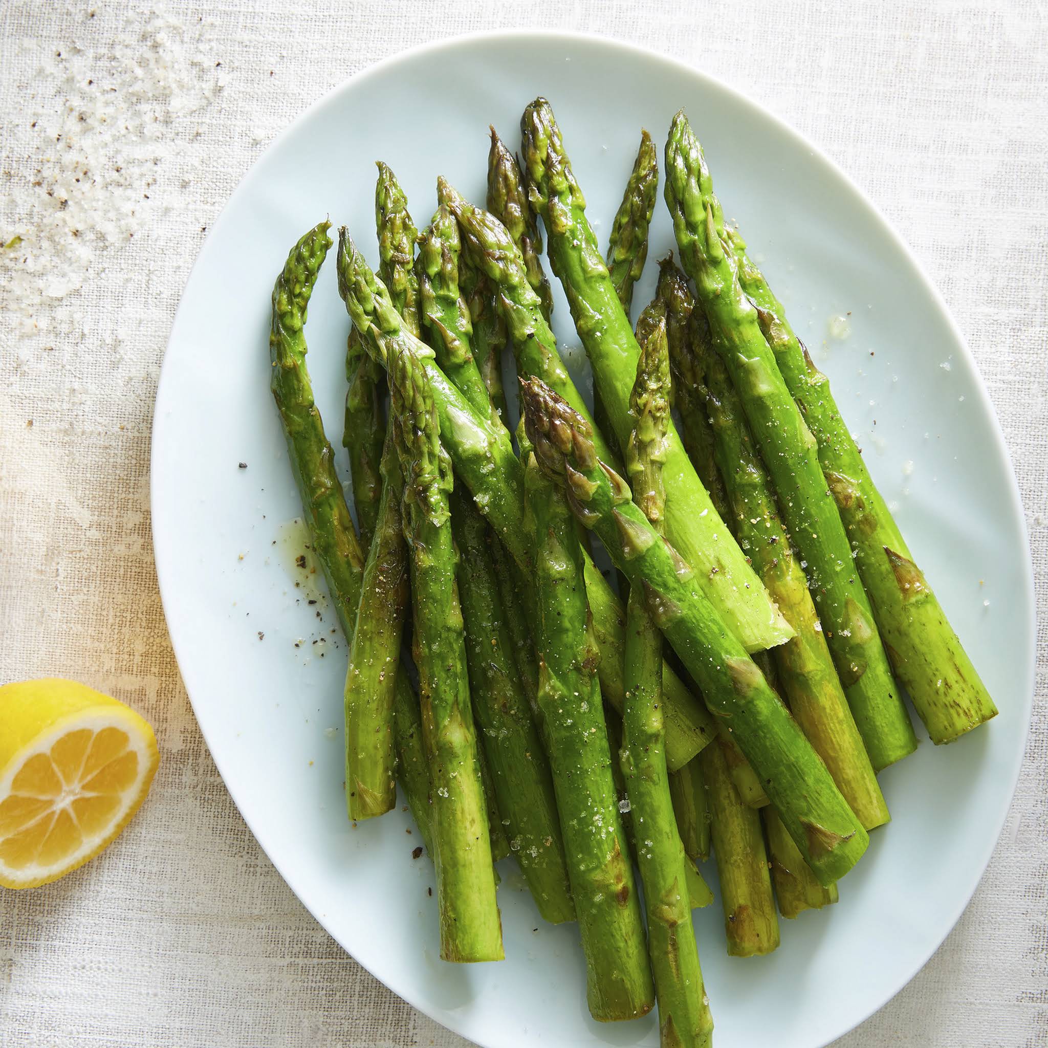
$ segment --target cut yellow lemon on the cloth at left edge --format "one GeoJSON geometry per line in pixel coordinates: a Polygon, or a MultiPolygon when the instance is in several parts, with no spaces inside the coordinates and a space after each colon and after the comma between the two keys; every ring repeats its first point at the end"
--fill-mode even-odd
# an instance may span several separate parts
{"type": "Polygon", "coordinates": [[[71,680],[0,687],[0,885],[58,880],[102,851],[149,792],[153,729],[71,680]]]}

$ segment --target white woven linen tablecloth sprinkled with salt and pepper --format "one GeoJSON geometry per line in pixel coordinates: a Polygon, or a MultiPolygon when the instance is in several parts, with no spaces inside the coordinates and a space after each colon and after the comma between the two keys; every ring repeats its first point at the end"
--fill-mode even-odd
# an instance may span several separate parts
{"type": "MultiPolygon", "coordinates": [[[[310,102],[405,47],[559,26],[649,45],[822,146],[901,231],[975,351],[1048,612],[1048,9],[912,0],[0,4],[0,681],[79,677],[163,761],[102,857],[0,890],[0,1045],[463,1048],[355,964],[260,851],[196,726],[149,523],[153,397],[205,230],[310,102]],[[65,201],[65,202],[63,202],[65,201]]],[[[1048,732],[941,949],[837,1045],[1048,1044],[1048,732]]],[[[861,948],[856,945],[856,948],[861,948]]],[[[763,1048],[763,1046],[762,1046],[763,1048]]]]}

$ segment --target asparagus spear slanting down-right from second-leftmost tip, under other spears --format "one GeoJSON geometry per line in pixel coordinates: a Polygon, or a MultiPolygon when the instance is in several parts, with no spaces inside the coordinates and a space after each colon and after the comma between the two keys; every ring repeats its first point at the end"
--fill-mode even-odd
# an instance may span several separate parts
{"type": "MultiPolygon", "coordinates": [[[[533,576],[531,537],[521,520],[524,503],[523,468],[502,425],[481,417],[433,362],[433,352],[401,323],[385,284],[371,271],[364,256],[342,230],[339,238],[339,293],[353,324],[366,336],[368,352],[383,366],[395,352],[413,356],[425,372],[440,417],[441,439],[456,473],[473,493],[525,580],[533,576]]],[[[601,684],[608,700],[620,709],[624,701],[623,607],[607,580],[585,560],[587,594],[594,634],[602,650],[601,684]]],[[[525,599],[531,601],[530,586],[525,599]]],[[[532,616],[533,620],[533,616],[532,616]]],[[[671,769],[690,761],[712,736],[709,715],[672,670],[663,671],[667,700],[667,758],[671,769]]]]}

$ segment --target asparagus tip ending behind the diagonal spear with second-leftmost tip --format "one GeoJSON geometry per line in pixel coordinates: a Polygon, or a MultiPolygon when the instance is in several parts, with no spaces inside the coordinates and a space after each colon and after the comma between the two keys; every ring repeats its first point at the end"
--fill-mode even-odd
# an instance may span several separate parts
{"type": "MultiPolygon", "coordinates": [[[[422,326],[437,365],[479,415],[492,416],[487,387],[471,351],[473,322],[459,292],[459,233],[455,216],[441,204],[418,238],[415,262],[422,326]]],[[[498,422],[497,416],[493,421],[498,422]]]]}

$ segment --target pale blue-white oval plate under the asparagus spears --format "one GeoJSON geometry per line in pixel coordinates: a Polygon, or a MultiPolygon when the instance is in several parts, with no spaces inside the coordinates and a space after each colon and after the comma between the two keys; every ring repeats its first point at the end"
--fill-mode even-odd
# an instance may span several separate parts
{"type": "MultiPolygon", "coordinates": [[[[500,890],[507,960],[438,960],[432,867],[411,857],[419,842],[406,832],[408,816],[398,810],[355,829],[346,820],[345,647],[323,596],[310,605],[308,587],[296,588],[301,573],[284,542],[300,510],[269,395],[267,329],[274,278],[289,247],[329,215],[374,259],[378,158],[398,174],[420,226],[438,174],[482,200],[488,123],[516,144],[521,111],[539,93],[553,103],[602,239],[641,126],[661,139],[685,107],[726,214],[831,375],[881,490],[898,504],[902,530],[1001,709],[948,747],[933,748],[922,734],[919,751],[881,777],[894,821],[872,835],[837,905],[782,922],[773,955],[727,958],[719,905],[697,914],[719,1048],[815,1048],[913,977],[989,859],[1029,720],[1032,580],[1001,433],[939,296],[861,193],[736,92],[624,44],[501,34],[381,62],[294,121],[208,237],[163,362],[153,537],[178,663],[208,745],[262,847],[331,935],[395,992],[490,1048],[658,1043],[653,1016],[590,1020],[574,926],[543,925],[509,864],[500,890]],[[828,320],[837,314],[849,318],[851,335],[827,348],[828,320]]],[[[673,240],[661,199],[656,216],[652,260],[673,240]]],[[[651,293],[654,268],[638,303],[651,293]]],[[[561,337],[572,339],[563,299],[555,315],[561,337]]],[[[347,326],[332,253],[306,333],[336,447],[347,326]]],[[[345,473],[342,458],[340,465],[345,473]]],[[[716,887],[713,864],[706,873],[716,887]]]]}

